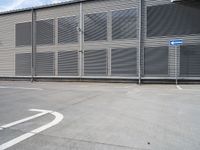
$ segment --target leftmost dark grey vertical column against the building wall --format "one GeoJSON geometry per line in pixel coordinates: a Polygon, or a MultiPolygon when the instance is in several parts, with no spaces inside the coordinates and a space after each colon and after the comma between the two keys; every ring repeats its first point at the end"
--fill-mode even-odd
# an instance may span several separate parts
{"type": "Polygon", "coordinates": [[[34,81],[34,77],[36,75],[35,71],[35,57],[36,57],[36,11],[34,9],[31,10],[32,13],[32,22],[31,22],[31,82],[34,81]]]}

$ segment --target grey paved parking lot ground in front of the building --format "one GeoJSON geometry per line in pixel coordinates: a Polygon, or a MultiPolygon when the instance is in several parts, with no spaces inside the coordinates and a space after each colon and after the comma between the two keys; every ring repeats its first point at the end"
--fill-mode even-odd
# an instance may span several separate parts
{"type": "Polygon", "coordinates": [[[0,81],[0,150],[5,145],[10,150],[199,150],[200,85],[0,81]],[[41,113],[30,109],[57,112],[63,119],[46,113],[2,128],[41,113]],[[22,139],[26,134],[34,135],[22,139]]]}

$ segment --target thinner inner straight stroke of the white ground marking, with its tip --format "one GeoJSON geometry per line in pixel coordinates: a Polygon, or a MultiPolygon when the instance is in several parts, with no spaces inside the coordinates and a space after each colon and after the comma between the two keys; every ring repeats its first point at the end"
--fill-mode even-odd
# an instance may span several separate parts
{"type": "Polygon", "coordinates": [[[46,110],[30,109],[29,111],[39,111],[39,112],[41,112],[41,113],[36,114],[36,115],[33,115],[33,116],[31,116],[31,117],[27,117],[27,118],[18,120],[18,121],[11,122],[11,123],[6,124],[6,125],[2,125],[2,126],[0,126],[0,128],[2,128],[2,129],[10,128],[10,127],[15,126],[15,125],[17,125],[17,124],[20,124],[20,123],[23,123],[23,122],[26,122],[26,121],[29,121],[29,120],[38,118],[38,117],[40,117],[40,116],[43,116],[43,115],[49,113],[49,111],[46,111],[46,110]]]}

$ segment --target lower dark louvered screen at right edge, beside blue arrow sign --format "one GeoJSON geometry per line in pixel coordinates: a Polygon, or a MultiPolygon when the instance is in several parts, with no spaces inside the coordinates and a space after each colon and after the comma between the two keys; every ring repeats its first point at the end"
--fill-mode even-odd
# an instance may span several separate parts
{"type": "Polygon", "coordinates": [[[200,45],[181,46],[180,76],[200,77],[200,45]]]}

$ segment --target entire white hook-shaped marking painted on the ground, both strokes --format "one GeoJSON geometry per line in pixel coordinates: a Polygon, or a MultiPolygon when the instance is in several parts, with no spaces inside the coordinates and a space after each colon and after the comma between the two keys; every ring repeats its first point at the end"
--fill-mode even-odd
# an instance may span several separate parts
{"type": "Polygon", "coordinates": [[[0,129],[5,129],[5,128],[17,125],[17,124],[25,122],[25,121],[28,121],[28,120],[31,120],[31,119],[35,119],[35,118],[40,117],[42,115],[45,115],[47,113],[50,113],[50,114],[54,115],[55,119],[53,121],[51,121],[50,123],[46,124],[46,125],[43,125],[43,126],[37,128],[37,129],[34,129],[34,130],[30,131],[30,132],[27,132],[27,133],[25,133],[25,134],[23,134],[23,135],[21,135],[21,136],[19,136],[17,138],[14,138],[14,139],[12,139],[12,140],[0,145],[0,150],[5,150],[5,149],[7,149],[7,148],[19,143],[19,142],[22,142],[22,141],[24,141],[24,140],[26,140],[26,139],[28,139],[28,138],[30,138],[30,137],[42,132],[42,131],[50,128],[50,127],[53,127],[56,124],[58,124],[60,121],[62,121],[63,118],[64,118],[64,116],[62,114],[60,114],[58,112],[49,111],[49,110],[30,109],[29,111],[38,111],[38,112],[41,112],[41,113],[39,113],[37,115],[34,115],[34,116],[31,116],[31,117],[28,117],[28,118],[21,119],[19,121],[15,121],[15,122],[9,123],[7,125],[3,125],[3,126],[0,127],[0,129]]]}

